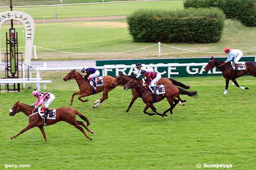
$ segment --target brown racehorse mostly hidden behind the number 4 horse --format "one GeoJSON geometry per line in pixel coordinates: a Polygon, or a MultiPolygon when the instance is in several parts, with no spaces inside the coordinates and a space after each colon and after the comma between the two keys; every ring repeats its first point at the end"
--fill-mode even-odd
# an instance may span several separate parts
{"type": "MultiPolygon", "coordinates": [[[[133,77],[130,77],[130,76],[127,76],[127,75],[124,75],[123,72],[118,75],[115,80],[112,82],[112,85],[119,85],[119,86],[124,86],[129,80],[131,80],[133,77]]],[[[143,80],[142,79],[136,79],[140,84],[143,83],[143,80]]],[[[174,79],[169,79],[169,78],[161,78],[160,80],[158,80],[158,82],[156,83],[156,85],[160,85],[160,84],[174,84],[176,86],[180,86],[182,88],[185,88],[185,89],[189,89],[190,87],[181,83],[181,82],[178,82],[174,79]]],[[[182,93],[183,94],[183,93],[182,93]]],[[[126,110],[126,112],[128,112],[130,110],[130,108],[132,107],[132,104],[135,102],[135,100],[137,100],[138,98],[141,98],[141,96],[137,93],[137,91],[132,88],[132,101],[130,102],[129,106],[128,106],[128,109],[126,110]]],[[[180,96],[178,95],[177,97],[180,101],[180,105],[185,105],[184,103],[182,102],[186,102],[186,100],[181,100],[180,99],[180,96]]]]}

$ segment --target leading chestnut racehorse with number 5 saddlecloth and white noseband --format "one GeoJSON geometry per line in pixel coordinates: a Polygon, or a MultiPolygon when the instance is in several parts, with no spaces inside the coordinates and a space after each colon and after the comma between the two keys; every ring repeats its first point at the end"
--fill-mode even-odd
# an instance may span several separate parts
{"type": "MultiPolygon", "coordinates": [[[[17,101],[13,104],[13,108],[10,109],[9,115],[14,116],[18,112],[23,112],[25,115],[28,116],[29,124],[23,130],[21,130],[17,135],[13,135],[12,137],[10,137],[10,139],[16,138],[20,134],[26,132],[27,130],[30,130],[31,128],[34,128],[35,126],[37,126],[41,130],[41,132],[43,134],[43,137],[45,138],[45,142],[47,142],[46,133],[45,133],[45,130],[43,128],[44,120],[38,114],[38,109],[35,109],[33,106],[30,106],[28,104],[23,104],[23,103],[20,103],[19,101],[17,101]]],[[[88,132],[90,132],[92,134],[94,134],[93,131],[90,130],[82,121],[76,120],[76,115],[78,115],[81,119],[83,119],[83,121],[87,122],[87,126],[90,125],[90,122],[87,119],[87,117],[85,117],[85,115],[78,112],[78,110],[75,110],[75,109],[72,109],[72,108],[67,108],[67,107],[57,108],[56,109],[56,119],[55,120],[54,119],[47,119],[47,124],[52,125],[52,124],[55,124],[59,121],[65,121],[65,122],[75,126],[88,139],[93,140],[93,138],[89,137],[89,135],[87,135],[84,132],[84,130],[81,126],[83,126],[88,132]]]]}

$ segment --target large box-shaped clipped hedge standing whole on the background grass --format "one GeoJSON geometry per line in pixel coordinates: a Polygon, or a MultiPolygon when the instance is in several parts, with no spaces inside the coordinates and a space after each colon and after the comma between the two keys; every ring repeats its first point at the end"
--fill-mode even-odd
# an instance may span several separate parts
{"type": "Polygon", "coordinates": [[[218,42],[224,13],[216,8],[179,11],[139,10],[128,16],[135,42],[218,42]]]}

